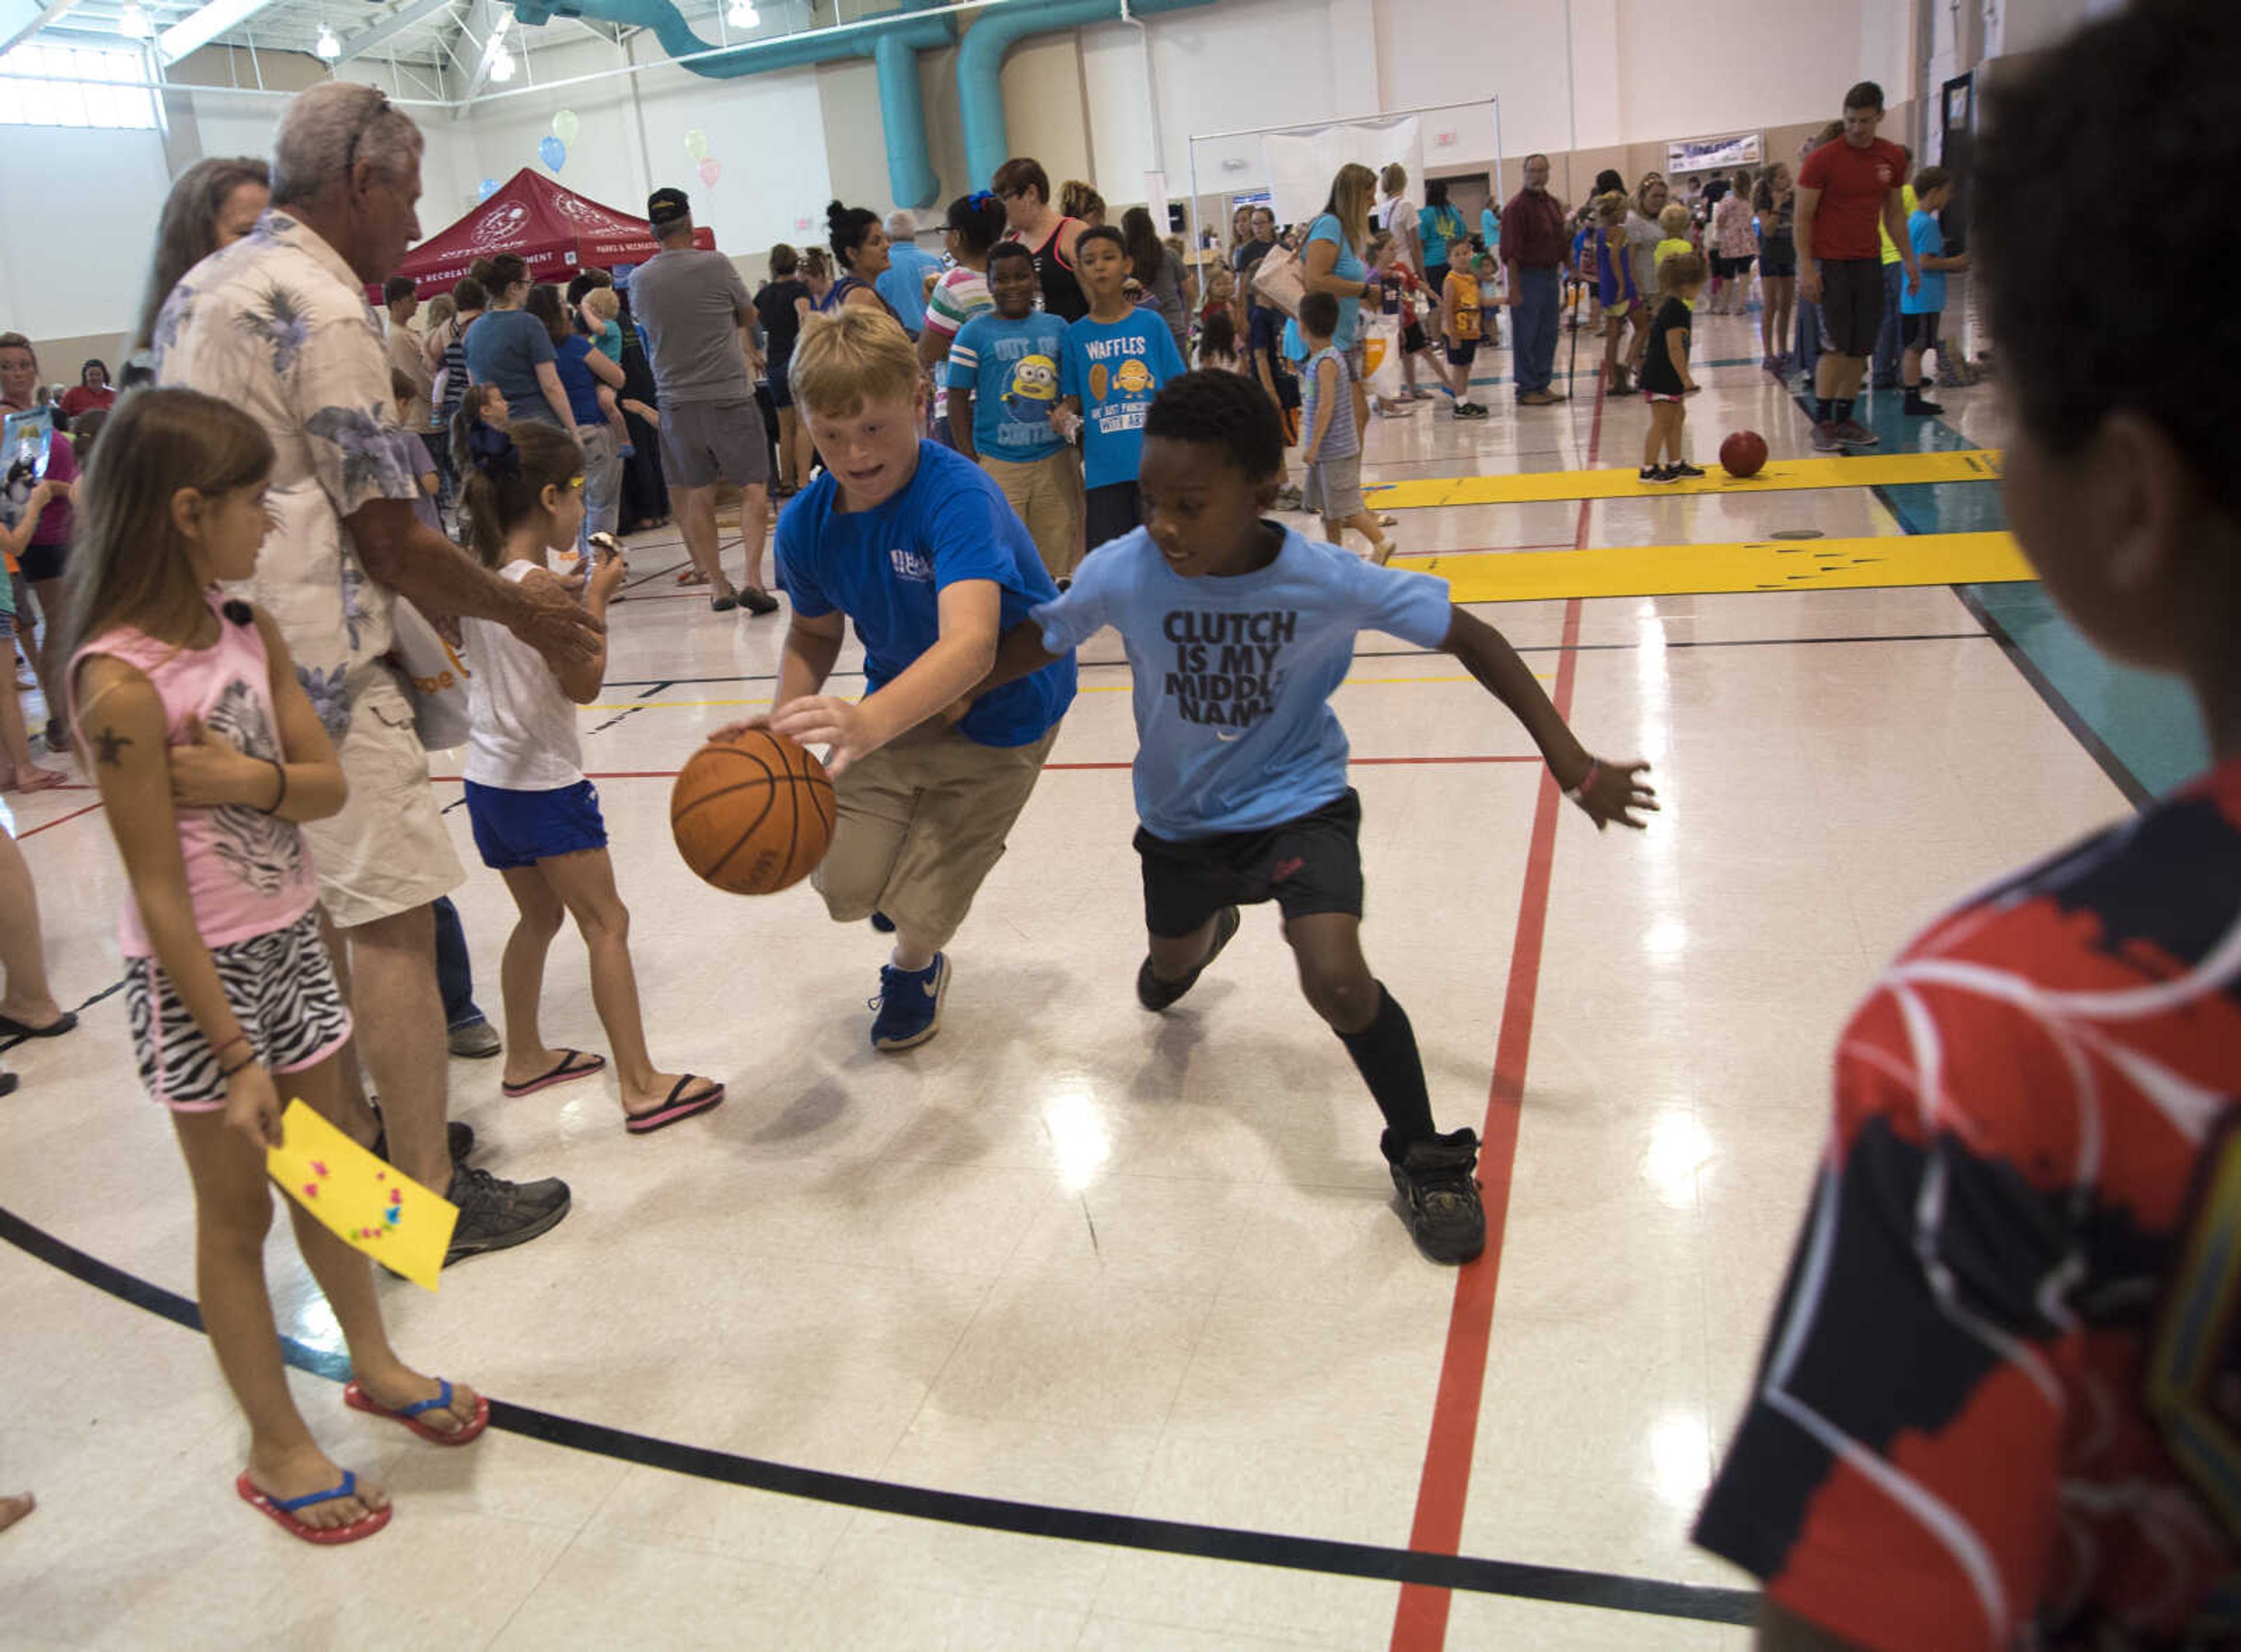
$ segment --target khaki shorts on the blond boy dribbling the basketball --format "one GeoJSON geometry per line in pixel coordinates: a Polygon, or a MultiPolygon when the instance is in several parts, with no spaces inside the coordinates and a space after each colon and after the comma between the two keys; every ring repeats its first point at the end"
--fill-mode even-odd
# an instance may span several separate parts
{"type": "Polygon", "coordinates": [[[912,730],[852,763],[834,781],[840,819],[811,877],[825,911],[843,924],[883,911],[912,940],[950,945],[1056,741],[1056,725],[1029,745],[912,730]]]}

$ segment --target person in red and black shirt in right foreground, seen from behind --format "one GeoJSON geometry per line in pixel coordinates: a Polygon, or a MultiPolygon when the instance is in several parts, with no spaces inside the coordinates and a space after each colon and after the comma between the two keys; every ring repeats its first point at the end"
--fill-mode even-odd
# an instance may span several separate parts
{"type": "Polygon", "coordinates": [[[2136,0],[1992,94],[2010,522],[2095,645],[2185,678],[2214,763],[1934,922],[1844,1030],[1694,1533],[1764,1578],[1761,1648],[2237,1643],[2241,468],[2201,387],[2241,331],[2194,184],[2241,170],[2237,85],[2241,7],[2136,0]],[[2055,302],[2075,199],[2109,264],[2055,302]]]}

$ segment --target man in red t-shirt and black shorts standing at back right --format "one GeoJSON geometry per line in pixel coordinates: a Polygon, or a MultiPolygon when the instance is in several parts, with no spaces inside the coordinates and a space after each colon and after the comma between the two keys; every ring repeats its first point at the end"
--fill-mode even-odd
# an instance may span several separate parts
{"type": "Polygon", "coordinates": [[[1878,437],[1851,416],[1882,327],[1882,237],[1876,219],[1903,248],[1907,291],[1923,271],[1907,237],[1900,184],[1907,157],[1876,137],[1882,125],[1882,87],[1860,81],[1844,94],[1844,137],[1824,143],[1797,168],[1797,295],[1820,304],[1826,351],[1813,372],[1813,445],[1871,448],[1878,437]]]}

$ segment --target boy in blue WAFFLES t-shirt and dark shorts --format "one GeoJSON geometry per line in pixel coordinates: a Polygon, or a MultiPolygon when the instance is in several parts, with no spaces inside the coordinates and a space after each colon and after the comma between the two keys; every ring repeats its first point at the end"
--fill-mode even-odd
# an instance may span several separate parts
{"type": "Polygon", "coordinates": [[[1058,421],[1082,432],[1089,548],[1096,551],[1143,522],[1136,504],[1143,416],[1159,387],[1183,376],[1185,363],[1159,311],[1136,309],[1120,291],[1129,273],[1120,231],[1082,231],[1073,264],[1089,293],[1089,313],[1067,327],[1058,421]]]}

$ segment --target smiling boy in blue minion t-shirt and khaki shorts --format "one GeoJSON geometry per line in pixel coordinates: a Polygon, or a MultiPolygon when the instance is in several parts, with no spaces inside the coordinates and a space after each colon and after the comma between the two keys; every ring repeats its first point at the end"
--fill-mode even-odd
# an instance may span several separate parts
{"type": "Polygon", "coordinates": [[[995,477],[1064,589],[1082,519],[1082,463],[1051,428],[1067,325],[1035,309],[1035,255],[1020,242],[988,248],[988,293],[995,309],[950,342],[950,445],[995,477]]]}

